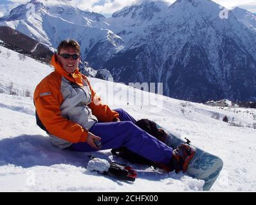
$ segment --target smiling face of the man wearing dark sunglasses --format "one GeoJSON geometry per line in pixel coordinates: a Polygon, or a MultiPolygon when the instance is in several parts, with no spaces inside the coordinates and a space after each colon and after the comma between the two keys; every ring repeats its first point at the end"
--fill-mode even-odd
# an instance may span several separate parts
{"type": "Polygon", "coordinates": [[[66,70],[66,72],[68,73],[73,73],[75,69],[77,69],[78,67],[80,57],[77,59],[73,59],[72,56],[70,56],[68,59],[66,59],[63,56],[61,56],[62,54],[71,54],[71,55],[78,54],[79,55],[79,53],[77,53],[75,49],[69,47],[66,49],[60,49],[60,54],[57,55],[58,61],[62,66],[62,68],[66,70]]]}

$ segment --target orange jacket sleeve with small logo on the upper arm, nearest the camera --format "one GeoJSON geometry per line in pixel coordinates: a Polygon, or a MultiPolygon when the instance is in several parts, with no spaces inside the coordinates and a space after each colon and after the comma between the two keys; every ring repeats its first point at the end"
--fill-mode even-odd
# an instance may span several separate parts
{"type": "Polygon", "coordinates": [[[87,130],[61,115],[62,95],[57,85],[51,81],[42,81],[34,93],[37,115],[48,133],[68,142],[86,142],[87,130]]]}

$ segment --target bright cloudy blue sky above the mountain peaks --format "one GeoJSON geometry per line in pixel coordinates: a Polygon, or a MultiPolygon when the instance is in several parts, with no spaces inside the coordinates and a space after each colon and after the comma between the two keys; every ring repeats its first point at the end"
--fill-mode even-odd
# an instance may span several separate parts
{"type": "MultiPolygon", "coordinates": [[[[29,0],[0,0],[0,17],[6,15],[19,4],[28,3],[29,0]]],[[[44,0],[50,3],[57,0],[44,0]]],[[[60,0],[59,0],[60,1],[60,0]]],[[[62,0],[70,1],[70,0],[62,0]]],[[[131,4],[140,3],[143,0],[72,0],[72,4],[78,6],[82,10],[88,10],[90,12],[102,13],[105,16],[112,15],[113,12],[122,9],[124,6],[130,6],[131,4]]],[[[157,1],[157,0],[156,0],[157,1]]],[[[162,0],[169,3],[173,3],[175,0],[162,0]]],[[[250,12],[256,13],[256,1],[255,0],[212,0],[225,6],[228,9],[232,9],[235,6],[245,8],[250,12]]]]}

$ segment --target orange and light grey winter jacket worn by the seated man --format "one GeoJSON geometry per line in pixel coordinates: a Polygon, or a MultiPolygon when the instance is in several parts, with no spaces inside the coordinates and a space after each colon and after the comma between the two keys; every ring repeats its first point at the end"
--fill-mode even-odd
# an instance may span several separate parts
{"type": "Polygon", "coordinates": [[[112,122],[119,115],[101,103],[86,76],[78,69],[68,74],[55,54],[51,58],[55,70],[35,88],[33,100],[37,125],[60,149],[71,143],[86,142],[87,132],[95,122],[112,122]]]}

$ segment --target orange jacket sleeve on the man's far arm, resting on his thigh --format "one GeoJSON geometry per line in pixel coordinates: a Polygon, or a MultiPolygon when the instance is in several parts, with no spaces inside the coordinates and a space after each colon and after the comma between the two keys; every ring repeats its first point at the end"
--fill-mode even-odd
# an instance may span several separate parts
{"type": "Polygon", "coordinates": [[[95,115],[101,122],[113,122],[114,118],[119,118],[118,112],[111,110],[107,104],[102,104],[100,97],[96,95],[89,80],[87,78],[84,79],[86,79],[91,90],[91,103],[89,104],[89,107],[91,108],[91,111],[93,111],[93,115],[95,115]]]}

